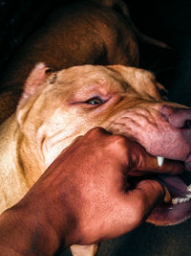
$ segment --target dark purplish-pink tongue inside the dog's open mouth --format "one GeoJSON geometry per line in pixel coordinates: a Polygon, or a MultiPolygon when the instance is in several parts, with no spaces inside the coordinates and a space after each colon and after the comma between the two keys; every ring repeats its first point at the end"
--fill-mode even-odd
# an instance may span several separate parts
{"type": "Polygon", "coordinates": [[[187,185],[178,176],[158,175],[159,180],[167,187],[172,198],[186,198],[187,185]]]}

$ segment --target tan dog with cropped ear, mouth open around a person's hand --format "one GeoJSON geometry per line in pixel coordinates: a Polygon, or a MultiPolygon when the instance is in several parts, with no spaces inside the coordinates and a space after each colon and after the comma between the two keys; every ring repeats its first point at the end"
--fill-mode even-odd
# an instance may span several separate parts
{"type": "MultiPolygon", "coordinates": [[[[16,113],[1,127],[1,211],[22,198],[76,136],[94,127],[131,137],[160,156],[159,164],[166,157],[184,161],[191,170],[191,109],[163,102],[162,86],[150,72],[121,65],[48,70],[43,63],[35,66],[16,113]]],[[[176,177],[163,180],[172,197],[171,214],[169,205],[160,205],[149,221],[188,219],[189,188],[176,177]]]]}

